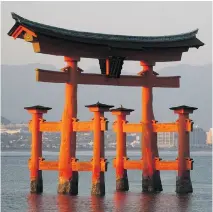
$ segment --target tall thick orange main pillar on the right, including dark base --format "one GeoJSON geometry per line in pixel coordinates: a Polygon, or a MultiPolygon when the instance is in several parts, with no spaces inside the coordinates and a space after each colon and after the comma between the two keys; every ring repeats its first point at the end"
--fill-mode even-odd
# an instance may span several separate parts
{"type": "Polygon", "coordinates": [[[147,83],[142,87],[142,158],[143,158],[143,175],[142,191],[159,192],[162,191],[160,172],[155,170],[155,157],[159,157],[157,148],[157,134],[153,131],[153,66],[141,62],[143,67],[139,75],[146,77],[147,83]]]}

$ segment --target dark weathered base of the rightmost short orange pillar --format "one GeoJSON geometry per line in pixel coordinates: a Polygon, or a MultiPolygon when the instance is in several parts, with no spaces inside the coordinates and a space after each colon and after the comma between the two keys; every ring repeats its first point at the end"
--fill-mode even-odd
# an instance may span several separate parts
{"type": "Polygon", "coordinates": [[[189,171],[186,171],[185,176],[176,178],[176,192],[179,194],[188,194],[193,192],[189,171]]]}

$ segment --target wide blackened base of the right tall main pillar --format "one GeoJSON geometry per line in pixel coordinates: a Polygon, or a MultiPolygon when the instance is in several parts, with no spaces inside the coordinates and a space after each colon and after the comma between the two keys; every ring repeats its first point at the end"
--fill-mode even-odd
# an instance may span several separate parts
{"type": "Polygon", "coordinates": [[[154,171],[153,176],[143,176],[142,191],[146,193],[156,193],[163,191],[160,179],[160,171],[154,171]]]}

